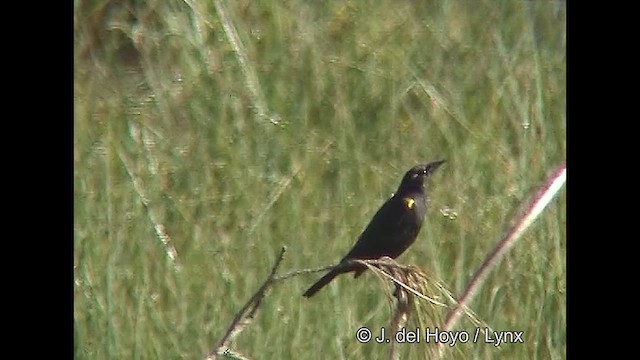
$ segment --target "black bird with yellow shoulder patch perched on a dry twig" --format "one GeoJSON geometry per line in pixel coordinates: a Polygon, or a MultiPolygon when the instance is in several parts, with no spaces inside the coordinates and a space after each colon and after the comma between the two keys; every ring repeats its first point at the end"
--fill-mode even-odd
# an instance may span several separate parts
{"type": "MultiPolygon", "coordinates": [[[[353,259],[378,259],[383,256],[395,259],[407,250],[416,240],[424,214],[427,212],[424,181],[444,162],[445,160],[440,160],[417,165],[407,171],[398,191],[373,216],[341,263],[353,259]]],[[[356,278],[365,270],[366,266],[359,264],[334,268],[313,284],[304,296],[313,296],[340,274],[355,271],[356,278]]]]}

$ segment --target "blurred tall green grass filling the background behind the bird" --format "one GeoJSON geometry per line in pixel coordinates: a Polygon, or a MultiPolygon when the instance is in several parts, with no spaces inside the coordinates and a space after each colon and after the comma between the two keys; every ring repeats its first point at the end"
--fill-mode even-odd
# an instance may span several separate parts
{"type": "MultiPolygon", "coordinates": [[[[398,260],[459,293],[565,158],[564,5],[229,1],[221,17],[215,3],[75,3],[75,358],[203,358],[281,246],[281,272],[335,263],[408,168],[441,158],[398,260]]],[[[455,358],[565,357],[565,203],[472,303],[525,343],[455,358]]],[[[340,277],[304,299],[318,277],[278,283],[233,349],[386,358],[355,341],[388,326],[378,280],[340,277]]]]}

